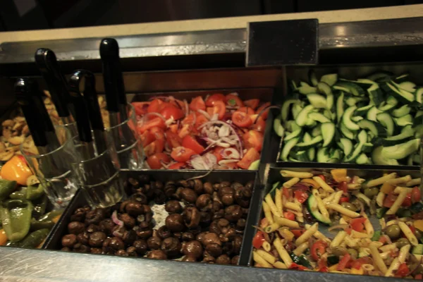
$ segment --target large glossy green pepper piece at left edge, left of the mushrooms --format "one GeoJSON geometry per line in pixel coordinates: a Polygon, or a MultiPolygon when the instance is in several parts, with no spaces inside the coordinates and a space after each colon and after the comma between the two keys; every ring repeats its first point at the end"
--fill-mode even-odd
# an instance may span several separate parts
{"type": "Polygon", "coordinates": [[[8,240],[22,240],[30,231],[32,203],[28,200],[6,200],[1,202],[0,218],[8,240]]]}

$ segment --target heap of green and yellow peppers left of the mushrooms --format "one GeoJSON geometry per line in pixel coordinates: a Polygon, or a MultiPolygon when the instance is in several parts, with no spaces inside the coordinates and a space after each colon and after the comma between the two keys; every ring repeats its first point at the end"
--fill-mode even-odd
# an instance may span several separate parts
{"type": "Polygon", "coordinates": [[[63,210],[46,213],[47,196],[22,156],[7,161],[0,176],[0,246],[41,247],[63,210]]]}

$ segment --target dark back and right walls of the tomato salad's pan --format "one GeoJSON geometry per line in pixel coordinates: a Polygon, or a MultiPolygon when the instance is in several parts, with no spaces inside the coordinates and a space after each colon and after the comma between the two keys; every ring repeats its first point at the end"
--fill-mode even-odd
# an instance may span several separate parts
{"type": "MultiPolygon", "coordinates": [[[[224,89],[214,89],[214,90],[195,90],[195,91],[178,91],[178,92],[149,92],[149,93],[140,93],[135,94],[131,99],[131,102],[145,102],[149,101],[149,99],[154,99],[154,97],[167,97],[173,96],[176,99],[187,99],[188,104],[190,100],[194,97],[201,96],[203,98],[207,97],[209,94],[214,93],[221,93],[221,94],[229,94],[237,92],[239,94],[240,99],[247,100],[247,99],[260,99],[260,102],[271,102],[271,104],[275,104],[274,99],[278,96],[278,88],[270,88],[270,87],[258,87],[258,88],[224,88],[224,89]]],[[[269,111],[269,116],[266,120],[266,128],[264,129],[264,140],[263,140],[263,149],[260,154],[260,162],[262,164],[267,163],[269,161],[274,161],[274,151],[269,150],[269,146],[274,143],[274,141],[270,140],[273,138],[271,133],[273,133],[273,118],[271,118],[272,113],[275,113],[274,110],[269,111]]],[[[273,114],[275,115],[275,114],[273,114]]],[[[276,136],[278,137],[278,136],[276,136]]]]}

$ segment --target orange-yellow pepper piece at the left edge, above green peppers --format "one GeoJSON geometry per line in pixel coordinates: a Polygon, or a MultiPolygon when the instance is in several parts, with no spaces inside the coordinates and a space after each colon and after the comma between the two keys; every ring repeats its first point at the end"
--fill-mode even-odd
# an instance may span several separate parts
{"type": "Polygon", "coordinates": [[[25,186],[27,178],[32,176],[32,172],[22,156],[14,156],[1,168],[0,176],[3,179],[16,181],[19,185],[25,186]]]}

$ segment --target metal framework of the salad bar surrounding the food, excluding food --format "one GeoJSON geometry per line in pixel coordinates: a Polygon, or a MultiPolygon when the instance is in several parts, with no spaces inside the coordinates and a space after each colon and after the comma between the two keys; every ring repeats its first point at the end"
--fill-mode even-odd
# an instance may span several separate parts
{"type": "MultiPolygon", "coordinates": [[[[367,77],[376,71],[392,73],[396,76],[407,73],[410,76],[405,81],[413,82],[414,89],[416,84],[422,83],[422,23],[423,18],[405,18],[319,25],[319,64],[316,66],[245,67],[249,56],[246,54],[248,34],[245,29],[117,37],[121,48],[125,91],[130,102],[147,101],[151,97],[172,96],[177,99],[190,99],[197,96],[207,97],[208,94],[216,92],[223,94],[238,92],[242,99],[260,99],[262,102],[271,104],[272,107],[269,109],[263,129],[264,140],[257,171],[216,169],[203,179],[212,183],[219,181],[236,181],[243,184],[252,181],[254,183],[248,209],[245,207],[246,214],[243,218],[245,231],[243,231],[239,259],[235,263],[238,265],[192,264],[171,260],[59,252],[62,247],[66,247],[62,245],[61,240],[63,235],[67,234],[68,223],[71,221],[73,212],[87,204],[82,193],[77,192],[44,243],[42,249],[47,250],[0,248],[0,280],[4,278],[5,281],[46,281],[51,278],[63,281],[115,281],[140,277],[149,281],[167,281],[168,279],[216,281],[216,278],[225,281],[241,279],[245,281],[257,281],[257,279],[327,281],[343,278],[348,281],[358,281],[362,279],[358,275],[252,267],[252,238],[255,235],[253,226],[259,224],[263,197],[269,191],[270,183],[280,178],[278,171],[281,168],[308,170],[348,168],[364,170],[364,174],[369,175],[374,171],[379,173],[388,170],[407,171],[408,174],[417,178],[419,177],[419,158],[416,157],[415,161],[411,159],[404,166],[375,164],[374,161],[366,164],[357,162],[333,164],[326,163],[328,159],[319,162],[304,160],[298,162],[297,159],[281,161],[280,155],[283,149],[281,146],[284,140],[276,134],[274,123],[280,118],[280,107],[286,102],[287,97],[291,97],[290,95],[300,87],[300,81],[310,80],[310,73],[314,73],[317,78],[324,74],[337,73],[339,78],[353,81],[367,77]],[[294,90],[290,88],[291,81],[298,83],[294,90]],[[274,106],[279,108],[276,109],[274,106]]],[[[16,78],[23,76],[35,78],[42,89],[45,89],[44,81],[34,63],[34,52],[40,47],[56,52],[61,69],[66,75],[80,68],[94,72],[96,90],[99,94],[104,94],[98,51],[100,41],[101,39],[98,38],[87,38],[1,44],[0,111],[3,113],[2,121],[8,119],[11,113],[16,111],[17,103],[13,94],[13,83],[16,78]]],[[[333,94],[337,95],[335,92],[333,94]]],[[[413,114],[416,113],[413,112],[413,114]]],[[[329,119],[331,119],[330,113],[329,119]]],[[[411,121],[410,125],[417,124],[411,121]]],[[[417,139],[414,132],[413,137],[417,139]]],[[[410,136],[407,138],[407,140],[411,139],[410,136]]],[[[355,139],[355,136],[352,139],[355,139]]],[[[369,142],[371,141],[366,140],[365,143],[369,142]]],[[[307,149],[310,148],[307,147],[307,149]]],[[[413,152],[417,152],[416,156],[419,156],[419,149],[413,152]]],[[[205,173],[207,171],[147,169],[136,172],[122,171],[121,177],[151,176],[154,180],[166,182],[202,176],[205,173]]],[[[365,278],[369,281],[400,280],[400,278],[375,276],[365,278]]]]}

